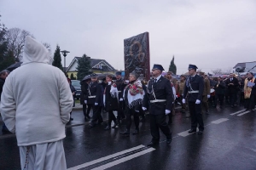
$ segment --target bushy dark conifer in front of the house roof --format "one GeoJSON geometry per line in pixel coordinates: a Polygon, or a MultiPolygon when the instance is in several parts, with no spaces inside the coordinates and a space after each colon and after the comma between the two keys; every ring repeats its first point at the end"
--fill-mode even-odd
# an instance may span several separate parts
{"type": "Polygon", "coordinates": [[[90,57],[87,57],[87,55],[84,54],[82,58],[79,59],[78,67],[76,69],[78,71],[77,78],[82,81],[85,76],[91,73],[90,57]]]}

